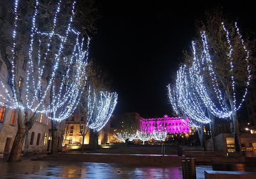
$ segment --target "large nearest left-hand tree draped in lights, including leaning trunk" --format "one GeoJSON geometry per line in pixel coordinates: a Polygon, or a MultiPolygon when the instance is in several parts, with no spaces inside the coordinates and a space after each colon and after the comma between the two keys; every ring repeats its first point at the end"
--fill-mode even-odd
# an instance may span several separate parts
{"type": "Polygon", "coordinates": [[[11,55],[1,49],[11,81],[10,85],[0,81],[6,92],[0,94],[0,104],[16,108],[18,115],[18,130],[8,162],[19,161],[25,136],[40,114],[50,114],[50,119],[61,121],[77,106],[86,79],[87,51],[83,50],[80,33],[71,27],[74,3],[71,7],[65,9],[58,2],[56,11],[44,16],[40,2],[15,1],[11,55]],[[27,68],[23,72],[25,62],[27,68]],[[28,117],[24,117],[25,113],[28,117]]]}

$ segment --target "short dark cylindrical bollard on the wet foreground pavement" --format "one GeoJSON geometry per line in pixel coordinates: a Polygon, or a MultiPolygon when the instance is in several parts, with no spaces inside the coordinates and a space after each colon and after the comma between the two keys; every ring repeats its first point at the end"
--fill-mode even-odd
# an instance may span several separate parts
{"type": "Polygon", "coordinates": [[[181,165],[183,179],[197,179],[195,158],[181,158],[181,165]]]}

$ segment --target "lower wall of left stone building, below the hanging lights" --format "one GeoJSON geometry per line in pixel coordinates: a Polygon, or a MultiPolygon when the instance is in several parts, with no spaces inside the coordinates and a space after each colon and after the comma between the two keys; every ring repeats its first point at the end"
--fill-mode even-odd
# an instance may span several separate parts
{"type": "MultiPolygon", "coordinates": [[[[17,132],[17,113],[15,109],[0,107],[0,156],[8,156],[17,132]]],[[[57,147],[61,151],[64,122],[57,122],[57,147]]],[[[40,115],[33,127],[28,131],[23,144],[24,154],[46,153],[51,151],[51,120],[40,115]]]]}

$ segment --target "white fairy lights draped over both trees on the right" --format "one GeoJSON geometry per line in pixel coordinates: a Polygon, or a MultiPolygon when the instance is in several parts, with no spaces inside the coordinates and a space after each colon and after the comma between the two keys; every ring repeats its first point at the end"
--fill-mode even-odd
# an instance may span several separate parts
{"type": "MultiPolygon", "coordinates": [[[[226,32],[226,38],[227,38],[227,42],[229,44],[228,57],[230,59],[230,69],[231,69],[231,72],[233,72],[234,66],[233,66],[233,62],[232,62],[233,60],[231,58],[233,49],[231,46],[231,42],[229,40],[229,33],[225,29],[225,26],[223,23],[222,23],[222,25],[223,25],[223,30],[226,32]]],[[[244,41],[242,39],[241,34],[239,33],[237,24],[236,24],[236,28],[237,28],[237,33],[239,34],[240,40],[243,44],[243,49],[247,54],[245,61],[248,63],[249,52],[246,50],[244,41]]],[[[189,116],[189,114],[190,114],[190,116],[189,116],[190,118],[193,118],[193,119],[196,119],[197,121],[205,123],[207,121],[209,122],[209,119],[207,117],[205,117],[203,110],[199,110],[199,108],[198,108],[198,106],[200,106],[198,104],[200,104],[200,103],[202,104],[202,101],[205,104],[205,106],[210,110],[211,114],[213,114],[219,118],[229,117],[231,115],[232,111],[229,111],[228,108],[225,106],[224,99],[223,99],[223,93],[221,92],[220,86],[218,84],[218,79],[215,74],[214,68],[212,66],[211,57],[209,55],[209,49],[208,49],[207,38],[206,38],[205,32],[203,32],[201,36],[202,36],[202,42],[203,42],[203,52],[200,55],[200,57],[198,57],[197,53],[196,53],[196,43],[194,41],[192,42],[194,60],[193,60],[191,67],[189,68],[189,74],[186,73],[184,70],[184,68],[186,68],[186,67],[181,66],[181,68],[177,72],[176,85],[172,89],[169,84],[167,86],[167,88],[168,88],[169,100],[170,100],[176,114],[180,114],[182,111],[185,115],[189,116]],[[215,105],[215,103],[212,101],[212,98],[209,97],[209,92],[207,91],[206,86],[204,84],[204,81],[207,81],[203,75],[203,73],[205,73],[205,72],[208,72],[210,75],[210,80],[211,80],[210,84],[212,84],[212,87],[214,88],[214,92],[217,96],[217,99],[219,100],[219,104],[220,104],[222,110],[220,110],[215,105]],[[187,78],[191,81],[190,83],[194,84],[194,85],[189,84],[187,82],[187,78]],[[191,89],[194,89],[194,90],[191,90],[191,89]],[[197,95],[196,95],[196,93],[197,93],[197,95]],[[194,97],[190,98],[191,95],[194,95],[194,97]],[[200,101],[198,101],[199,98],[197,96],[200,97],[200,101]],[[197,110],[197,111],[195,112],[195,110],[197,110]],[[204,120],[202,120],[202,119],[204,119],[204,120]]],[[[234,76],[231,76],[232,93],[233,93],[232,96],[234,99],[233,102],[234,102],[235,110],[238,110],[241,107],[241,105],[245,99],[245,96],[247,94],[247,87],[249,85],[249,81],[250,81],[250,77],[251,77],[249,64],[247,65],[247,72],[248,72],[248,80],[246,83],[245,93],[244,93],[243,99],[238,107],[236,107],[236,93],[235,93],[235,88],[234,88],[234,84],[235,84],[234,76]]],[[[190,123],[190,121],[189,121],[189,123],[190,123]]]]}

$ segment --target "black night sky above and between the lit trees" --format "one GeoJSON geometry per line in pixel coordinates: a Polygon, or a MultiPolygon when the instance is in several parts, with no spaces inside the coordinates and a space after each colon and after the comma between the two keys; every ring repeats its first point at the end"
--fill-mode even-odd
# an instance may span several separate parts
{"type": "Polygon", "coordinates": [[[115,115],[137,112],[143,118],[172,116],[166,86],[179,68],[182,50],[195,35],[204,9],[221,5],[242,31],[256,32],[253,1],[100,1],[102,18],[92,36],[90,58],[109,70],[118,93],[115,115]]]}

